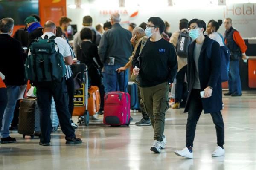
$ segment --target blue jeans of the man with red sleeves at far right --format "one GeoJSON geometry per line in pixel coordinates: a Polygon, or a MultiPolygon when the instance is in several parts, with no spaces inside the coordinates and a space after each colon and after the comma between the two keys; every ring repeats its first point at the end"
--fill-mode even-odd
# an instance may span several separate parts
{"type": "Polygon", "coordinates": [[[228,88],[230,93],[242,94],[239,60],[230,60],[228,88]]]}

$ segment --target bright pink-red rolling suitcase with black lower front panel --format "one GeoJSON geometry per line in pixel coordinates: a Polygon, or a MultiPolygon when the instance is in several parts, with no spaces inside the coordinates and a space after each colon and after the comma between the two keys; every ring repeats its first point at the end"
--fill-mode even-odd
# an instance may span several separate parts
{"type": "Polygon", "coordinates": [[[126,92],[108,92],[104,102],[104,124],[130,125],[130,95],[126,92]]]}

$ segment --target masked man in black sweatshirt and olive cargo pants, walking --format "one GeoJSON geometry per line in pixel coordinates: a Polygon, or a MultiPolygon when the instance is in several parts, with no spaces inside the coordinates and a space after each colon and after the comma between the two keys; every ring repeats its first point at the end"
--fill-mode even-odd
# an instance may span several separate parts
{"type": "Polygon", "coordinates": [[[161,18],[149,18],[145,33],[150,38],[139,44],[132,61],[134,75],[139,75],[144,107],[154,129],[155,141],[150,149],[154,153],[160,153],[166,145],[163,132],[165,113],[169,108],[169,87],[177,74],[174,46],[161,37],[164,28],[161,18]],[[140,53],[142,45],[144,47],[140,53]]]}

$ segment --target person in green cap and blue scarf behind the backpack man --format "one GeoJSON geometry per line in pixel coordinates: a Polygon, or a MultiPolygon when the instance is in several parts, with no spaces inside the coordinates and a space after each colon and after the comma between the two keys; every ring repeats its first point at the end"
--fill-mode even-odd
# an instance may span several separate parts
{"type": "Polygon", "coordinates": [[[27,30],[29,32],[29,40],[28,40],[28,49],[30,44],[32,43],[33,40],[35,40],[36,38],[41,37],[44,33],[43,33],[43,27],[40,25],[40,23],[38,22],[38,20],[35,17],[27,17],[24,20],[24,23],[27,27],[27,30]]]}

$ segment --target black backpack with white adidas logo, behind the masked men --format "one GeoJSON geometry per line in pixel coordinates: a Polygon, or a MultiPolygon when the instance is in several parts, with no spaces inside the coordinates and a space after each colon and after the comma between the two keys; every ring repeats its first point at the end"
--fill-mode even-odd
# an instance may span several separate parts
{"type": "Polygon", "coordinates": [[[188,46],[192,42],[187,31],[180,32],[176,45],[176,54],[181,58],[188,57],[188,46]]]}

